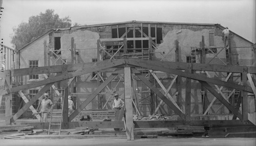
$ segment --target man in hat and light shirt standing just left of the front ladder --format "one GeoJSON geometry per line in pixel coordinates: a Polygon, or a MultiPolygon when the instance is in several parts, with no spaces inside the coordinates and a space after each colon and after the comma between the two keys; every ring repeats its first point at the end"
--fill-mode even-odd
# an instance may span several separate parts
{"type": "Polygon", "coordinates": [[[49,94],[44,94],[44,99],[41,101],[41,116],[43,119],[43,122],[46,122],[48,115],[52,108],[52,101],[49,99],[49,94]]]}

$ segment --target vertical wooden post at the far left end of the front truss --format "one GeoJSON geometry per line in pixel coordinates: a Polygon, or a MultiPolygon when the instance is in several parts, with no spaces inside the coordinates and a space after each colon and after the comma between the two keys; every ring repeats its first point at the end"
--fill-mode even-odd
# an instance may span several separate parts
{"type": "MultiPolygon", "coordinates": [[[[12,80],[11,80],[11,70],[5,70],[5,80],[8,85],[6,89],[12,88],[12,80]]],[[[9,93],[5,96],[5,116],[6,116],[6,124],[11,124],[12,117],[12,93],[9,93]]]]}

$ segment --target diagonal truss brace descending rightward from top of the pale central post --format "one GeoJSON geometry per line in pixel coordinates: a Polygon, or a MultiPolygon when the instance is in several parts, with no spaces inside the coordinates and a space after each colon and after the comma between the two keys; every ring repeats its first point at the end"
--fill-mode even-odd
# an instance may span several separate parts
{"type": "Polygon", "coordinates": [[[169,106],[176,114],[178,114],[182,119],[185,119],[185,114],[182,113],[171,101],[169,101],[162,92],[160,92],[156,87],[154,87],[150,81],[148,81],[144,76],[140,74],[136,74],[140,80],[145,83],[148,87],[151,88],[153,92],[155,92],[158,97],[163,100],[164,103],[166,103],[167,106],[169,106]]]}

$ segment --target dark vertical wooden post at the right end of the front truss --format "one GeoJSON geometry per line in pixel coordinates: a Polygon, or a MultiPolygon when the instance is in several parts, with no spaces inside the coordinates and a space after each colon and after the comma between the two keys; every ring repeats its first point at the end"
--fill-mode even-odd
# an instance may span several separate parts
{"type": "MultiPolygon", "coordinates": [[[[243,67],[242,72],[242,82],[243,85],[247,82],[247,67],[243,67]]],[[[248,120],[248,99],[247,99],[247,92],[242,91],[242,115],[243,115],[243,123],[247,123],[248,120]]]]}

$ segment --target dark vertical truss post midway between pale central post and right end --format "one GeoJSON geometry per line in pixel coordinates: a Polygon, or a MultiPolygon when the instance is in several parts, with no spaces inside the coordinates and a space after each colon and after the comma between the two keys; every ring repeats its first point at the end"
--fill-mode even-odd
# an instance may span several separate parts
{"type": "MultiPolygon", "coordinates": [[[[192,73],[192,63],[187,64],[185,71],[192,73]]],[[[190,122],[190,112],[191,112],[191,79],[186,78],[186,97],[185,97],[186,123],[190,122]]]]}

